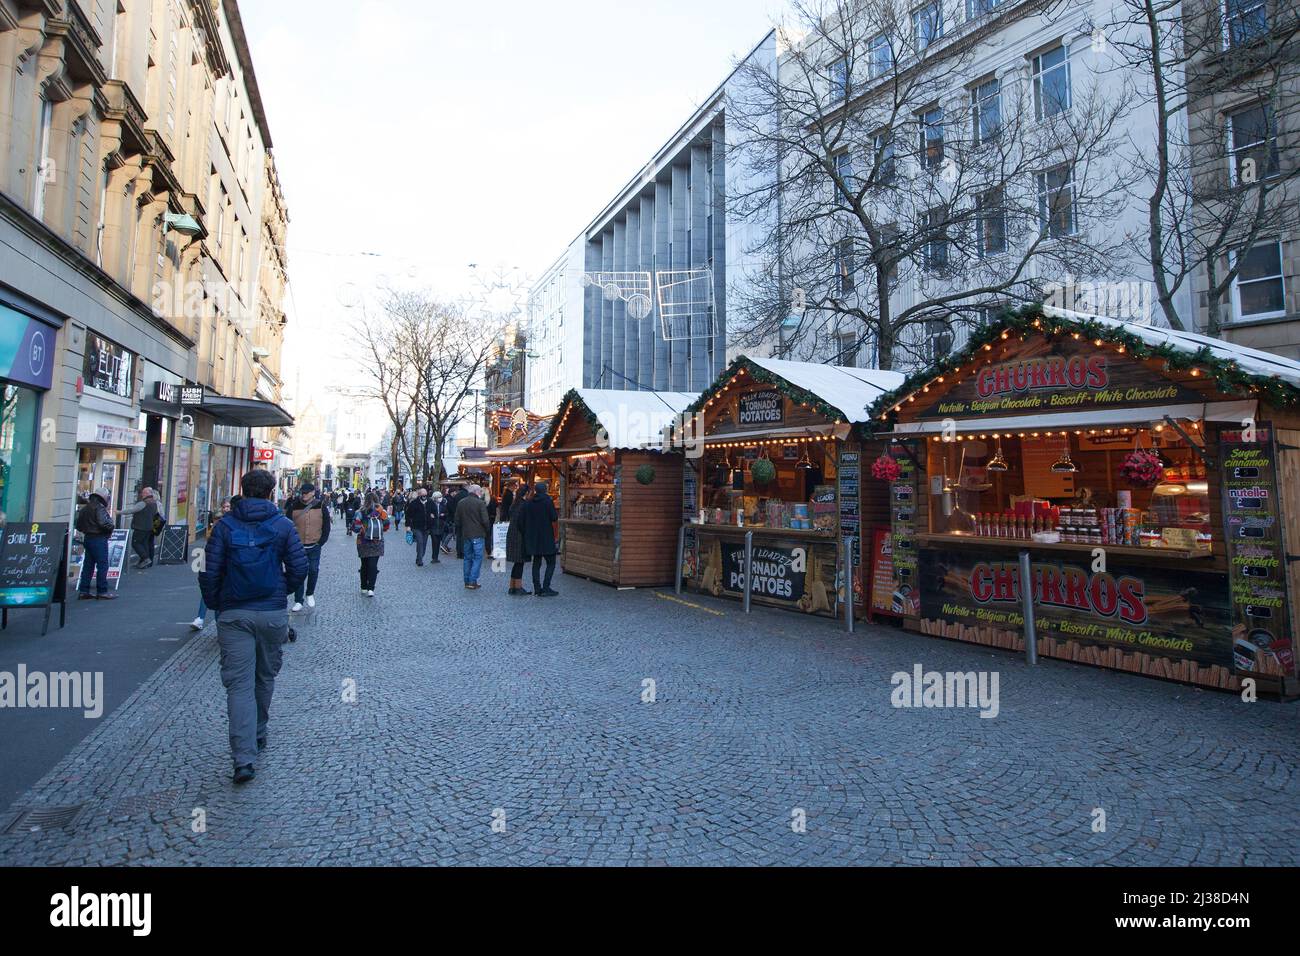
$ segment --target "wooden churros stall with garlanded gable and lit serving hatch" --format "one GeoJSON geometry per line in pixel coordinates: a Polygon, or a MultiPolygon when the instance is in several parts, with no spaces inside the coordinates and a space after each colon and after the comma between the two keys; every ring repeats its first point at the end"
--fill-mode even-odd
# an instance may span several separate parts
{"type": "Polygon", "coordinates": [[[885,397],[922,633],[1292,696],[1300,363],[1056,310],[885,397]]]}

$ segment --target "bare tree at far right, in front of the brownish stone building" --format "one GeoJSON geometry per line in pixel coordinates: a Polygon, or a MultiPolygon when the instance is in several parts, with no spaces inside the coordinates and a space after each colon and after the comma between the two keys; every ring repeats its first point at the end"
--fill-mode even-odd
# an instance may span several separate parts
{"type": "Polygon", "coordinates": [[[1117,69],[1154,113],[1154,129],[1131,133],[1131,155],[1156,298],[1183,328],[1175,299],[1204,268],[1206,330],[1218,336],[1248,261],[1238,252],[1300,224],[1295,124],[1279,122],[1300,103],[1300,16],[1282,0],[1121,0],[1105,34],[1117,69]]]}

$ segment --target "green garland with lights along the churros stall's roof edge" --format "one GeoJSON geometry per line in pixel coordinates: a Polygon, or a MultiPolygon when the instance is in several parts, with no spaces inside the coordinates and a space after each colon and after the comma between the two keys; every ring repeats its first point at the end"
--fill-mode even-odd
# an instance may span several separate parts
{"type": "Polygon", "coordinates": [[[1002,312],[989,325],[976,330],[962,352],[949,356],[941,365],[933,365],[923,372],[909,376],[896,392],[881,395],[871,406],[870,421],[863,425],[863,433],[871,437],[876,431],[892,432],[893,410],[901,401],[924,388],[936,377],[949,373],[954,368],[961,368],[976,358],[984,350],[984,346],[1001,341],[1004,332],[1022,337],[1079,333],[1091,341],[1101,341],[1117,347],[1122,346],[1139,362],[1164,362],[1165,369],[1170,372],[1188,372],[1193,368],[1200,368],[1213,377],[1218,390],[1225,395],[1256,397],[1277,408],[1300,406],[1300,389],[1296,386],[1290,385],[1278,376],[1252,375],[1244,371],[1235,359],[1222,359],[1214,355],[1208,345],[1195,352],[1184,351],[1167,343],[1153,346],[1124,328],[1098,323],[1093,319],[1078,320],[1049,316],[1040,306],[1030,306],[1019,312],[1011,310],[1002,312]],[[1039,323],[1037,326],[1035,326],[1035,321],[1039,323]],[[881,416],[888,416],[889,420],[881,421],[881,416]]]}

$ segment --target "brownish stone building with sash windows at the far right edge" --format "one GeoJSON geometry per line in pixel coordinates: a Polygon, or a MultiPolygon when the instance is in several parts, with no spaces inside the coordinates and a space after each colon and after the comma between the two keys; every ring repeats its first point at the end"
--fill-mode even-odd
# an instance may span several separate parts
{"type": "Polygon", "coordinates": [[[1183,18],[1197,326],[1300,358],[1300,9],[1192,0],[1183,18]]]}

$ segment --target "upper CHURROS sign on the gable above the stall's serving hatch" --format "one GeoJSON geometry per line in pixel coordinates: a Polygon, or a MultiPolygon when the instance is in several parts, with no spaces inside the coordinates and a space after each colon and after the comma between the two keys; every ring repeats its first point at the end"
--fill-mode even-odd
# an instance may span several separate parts
{"type": "MultiPolygon", "coordinates": [[[[1046,343],[1041,343],[1046,347],[1046,343]]],[[[1141,363],[1091,343],[1060,343],[983,365],[927,407],[920,418],[1020,415],[1196,402],[1190,389],[1153,376],[1141,363]]]]}

